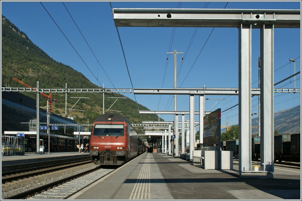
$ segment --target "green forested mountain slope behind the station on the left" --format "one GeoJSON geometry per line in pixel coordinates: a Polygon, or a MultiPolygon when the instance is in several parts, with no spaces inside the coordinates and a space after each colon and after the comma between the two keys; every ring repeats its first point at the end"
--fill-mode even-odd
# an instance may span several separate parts
{"type": "MultiPolygon", "coordinates": [[[[43,50],[31,42],[27,35],[12,24],[2,15],[2,86],[20,86],[22,84],[13,80],[16,77],[32,87],[40,82],[40,88],[100,88],[90,82],[82,73],[74,70],[71,66],[64,65],[53,60],[43,50]]],[[[26,96],[36,99],[36,93],[24,92],[26,96]]],[[[91,123],[98,115],[103,113],[103,95],[101,93],[76,93],[68,94],[70,97],[89,97],[80,99],[73,109],[65,115],[65,94],[53,93],[52,98],[58,102],[53,104],[53,112],[64,116],[74,117],[76,122],[85,124],[88,119],[91,123]],[[83,110],[83,111],[79,111],[83,110]]],[[[40,96],[40,107],[46,106],[46,97],[40,96]]],[[[122,94],[110,93],[105,97],[125,97],[122,94]]],[[[67,112],[78,99],[68,99],[67,112]]],[[[105,98],[105,112],[113,104],[115,99],[105,98]]],[[[140,110],[149,110],[138,104],[140,110]]],[[[110,108],[121,111],[130,123],[144,121],[158,121],[154,114],[139,114],[137,103],[132,99],[118,99],[110,108]]]]}

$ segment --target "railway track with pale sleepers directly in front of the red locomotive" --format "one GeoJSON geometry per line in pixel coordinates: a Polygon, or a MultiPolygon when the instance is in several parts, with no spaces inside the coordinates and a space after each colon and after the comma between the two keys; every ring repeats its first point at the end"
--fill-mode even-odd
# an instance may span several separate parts
{"type": "Polygon", "coordinates": [[[95,167],[5,199],[66,199],[114,170],[95,167]]]}

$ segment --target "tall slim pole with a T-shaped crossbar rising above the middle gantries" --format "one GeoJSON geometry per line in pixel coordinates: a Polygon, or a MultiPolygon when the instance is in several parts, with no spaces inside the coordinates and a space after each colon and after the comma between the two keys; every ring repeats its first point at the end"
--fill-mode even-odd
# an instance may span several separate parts
{"type": "MultiPolygon", "coordinates": [[[[174,54],[174,89],[177,88],[177,65],[176,65],[176,56],[177,54],[183,54],[183,52],[177,52],[174,50],[173,52],[167,52],[167,54],[174,54]]],[[[182,58],[182,62],[183,62],[182,58]]],[[[174,94],[174,111],[176,111],[176,94],[174,94]]],[[[194,121],[194,120],[193,120],[194,121]]],[[[174,115],[174,135],[175,135],[175,144],[178,144],[178,118],[176,119],[176,114],[174,115]],[[177,121],[176,121],[177,120],[177,121]]],[[[175,155],[178,156],[178,145],[175,145],[175,155]]]]}

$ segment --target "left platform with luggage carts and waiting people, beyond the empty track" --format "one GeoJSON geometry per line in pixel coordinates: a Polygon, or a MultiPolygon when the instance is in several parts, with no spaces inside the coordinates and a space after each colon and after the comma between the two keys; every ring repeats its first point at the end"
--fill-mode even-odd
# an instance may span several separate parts
{"type": "Polygon", "coordinates": [[[1,156],[1,170],[10,171],[23,168],[40,167],[43,165],[59,164],[89,159],[89,153],[51,152],[48,154],[25,153],[23,156],[1,156]]]}

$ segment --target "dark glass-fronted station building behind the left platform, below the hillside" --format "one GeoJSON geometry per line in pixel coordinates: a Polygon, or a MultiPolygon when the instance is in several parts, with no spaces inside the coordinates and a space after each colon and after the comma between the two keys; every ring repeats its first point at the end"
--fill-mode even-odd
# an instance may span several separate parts
{"type": "MultiPolygon", "coordinates": [[[[37,143],[37,107],[36,100],[19,92],[2,92],[2,126],[1,135],[24,133],[25,152],[36,152],[37,143]]],[[[59,130],[50,130],[50,152],[78,151],[76,144],[79,138],[74,136],[79,128],[72,118],[65,118],[52,113],[50,124],[66,124],[58,126],[59,130]]],[[[47,125],[47,111],[40,109],[40,125],[47,125]]],[[[39,128],[39,127],[38,127],[39,128]]],[[[80,131],[84,130],[80,126],[80,131]]],[[[43,139],[45,151],[48,151],[47,130],[40,130],[39,139],[43,139]]],[[[82,137],[82,136],[81,136],[82,137]]]]}

